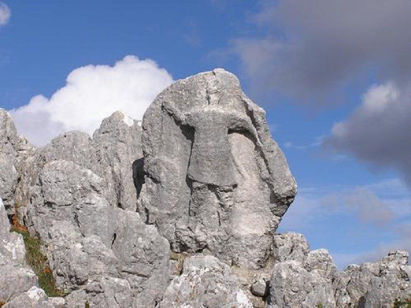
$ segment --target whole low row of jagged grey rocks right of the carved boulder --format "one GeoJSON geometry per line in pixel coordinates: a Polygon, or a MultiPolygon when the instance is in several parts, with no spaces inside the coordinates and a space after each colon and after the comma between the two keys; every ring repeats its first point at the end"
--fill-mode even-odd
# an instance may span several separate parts
{"type": "Polygon", "coordinates": [[[304,236],[284,233],[274,236],[273,256],[268,307],[392,307],[411,297],[406,252],[337,273],[325,249],[310,252],[304,236]]]}

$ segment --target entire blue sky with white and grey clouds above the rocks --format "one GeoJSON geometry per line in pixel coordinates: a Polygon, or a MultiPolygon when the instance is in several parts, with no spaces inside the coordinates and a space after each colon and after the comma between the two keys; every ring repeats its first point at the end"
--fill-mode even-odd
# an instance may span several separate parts
{"type": "Polygon", "coordinates": [[[411,247],[410,13],[401,0],[3,0],[0,106],[41,144],[92,131],[96,106],[139,117],[172,80],[223,67],[266,109],[297,180],[279,230],[303,233],[340,266],[376,259],[411,247]],[[145,95],[123,97],[130,79],[145,95]],[[78,107],[64,109],[72,99],[78,107]],[[87,125],[69,119],[76,112],[87,125]]]}

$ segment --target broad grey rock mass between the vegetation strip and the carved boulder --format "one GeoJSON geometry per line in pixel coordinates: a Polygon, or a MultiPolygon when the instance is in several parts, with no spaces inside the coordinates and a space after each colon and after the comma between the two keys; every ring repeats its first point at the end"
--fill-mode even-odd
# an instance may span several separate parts
{"type": "Polygon", "coordinates": [[[19,164],[18,217],[67,306],[154,305],[169,283],[170,244],[136,213],[140,139],[141,122],[115,112],[93,138],[63,133],[19,164]]]}

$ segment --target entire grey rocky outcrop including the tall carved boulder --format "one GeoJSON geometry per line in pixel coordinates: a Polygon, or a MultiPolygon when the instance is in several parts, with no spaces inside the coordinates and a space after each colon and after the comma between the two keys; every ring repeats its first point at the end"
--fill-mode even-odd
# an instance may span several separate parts
{"type": "Polygon", "coordinates": [[[265,111],[215,69],[143,121],[35,148],[0,109],[0,306],[401,307],[408,253],[338,271],[276,229],[296,183],[265,111]]]}

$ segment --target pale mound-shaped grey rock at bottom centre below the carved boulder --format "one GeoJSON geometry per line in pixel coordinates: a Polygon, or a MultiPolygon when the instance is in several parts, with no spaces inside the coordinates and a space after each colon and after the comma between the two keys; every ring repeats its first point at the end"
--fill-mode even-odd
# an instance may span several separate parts
{"type": "Polygon", "coordinates": [[[247,295],[227,264],[213,256],[184,260],[183,272],[165,291],[159,307],[252,308],[247,295]]]}

